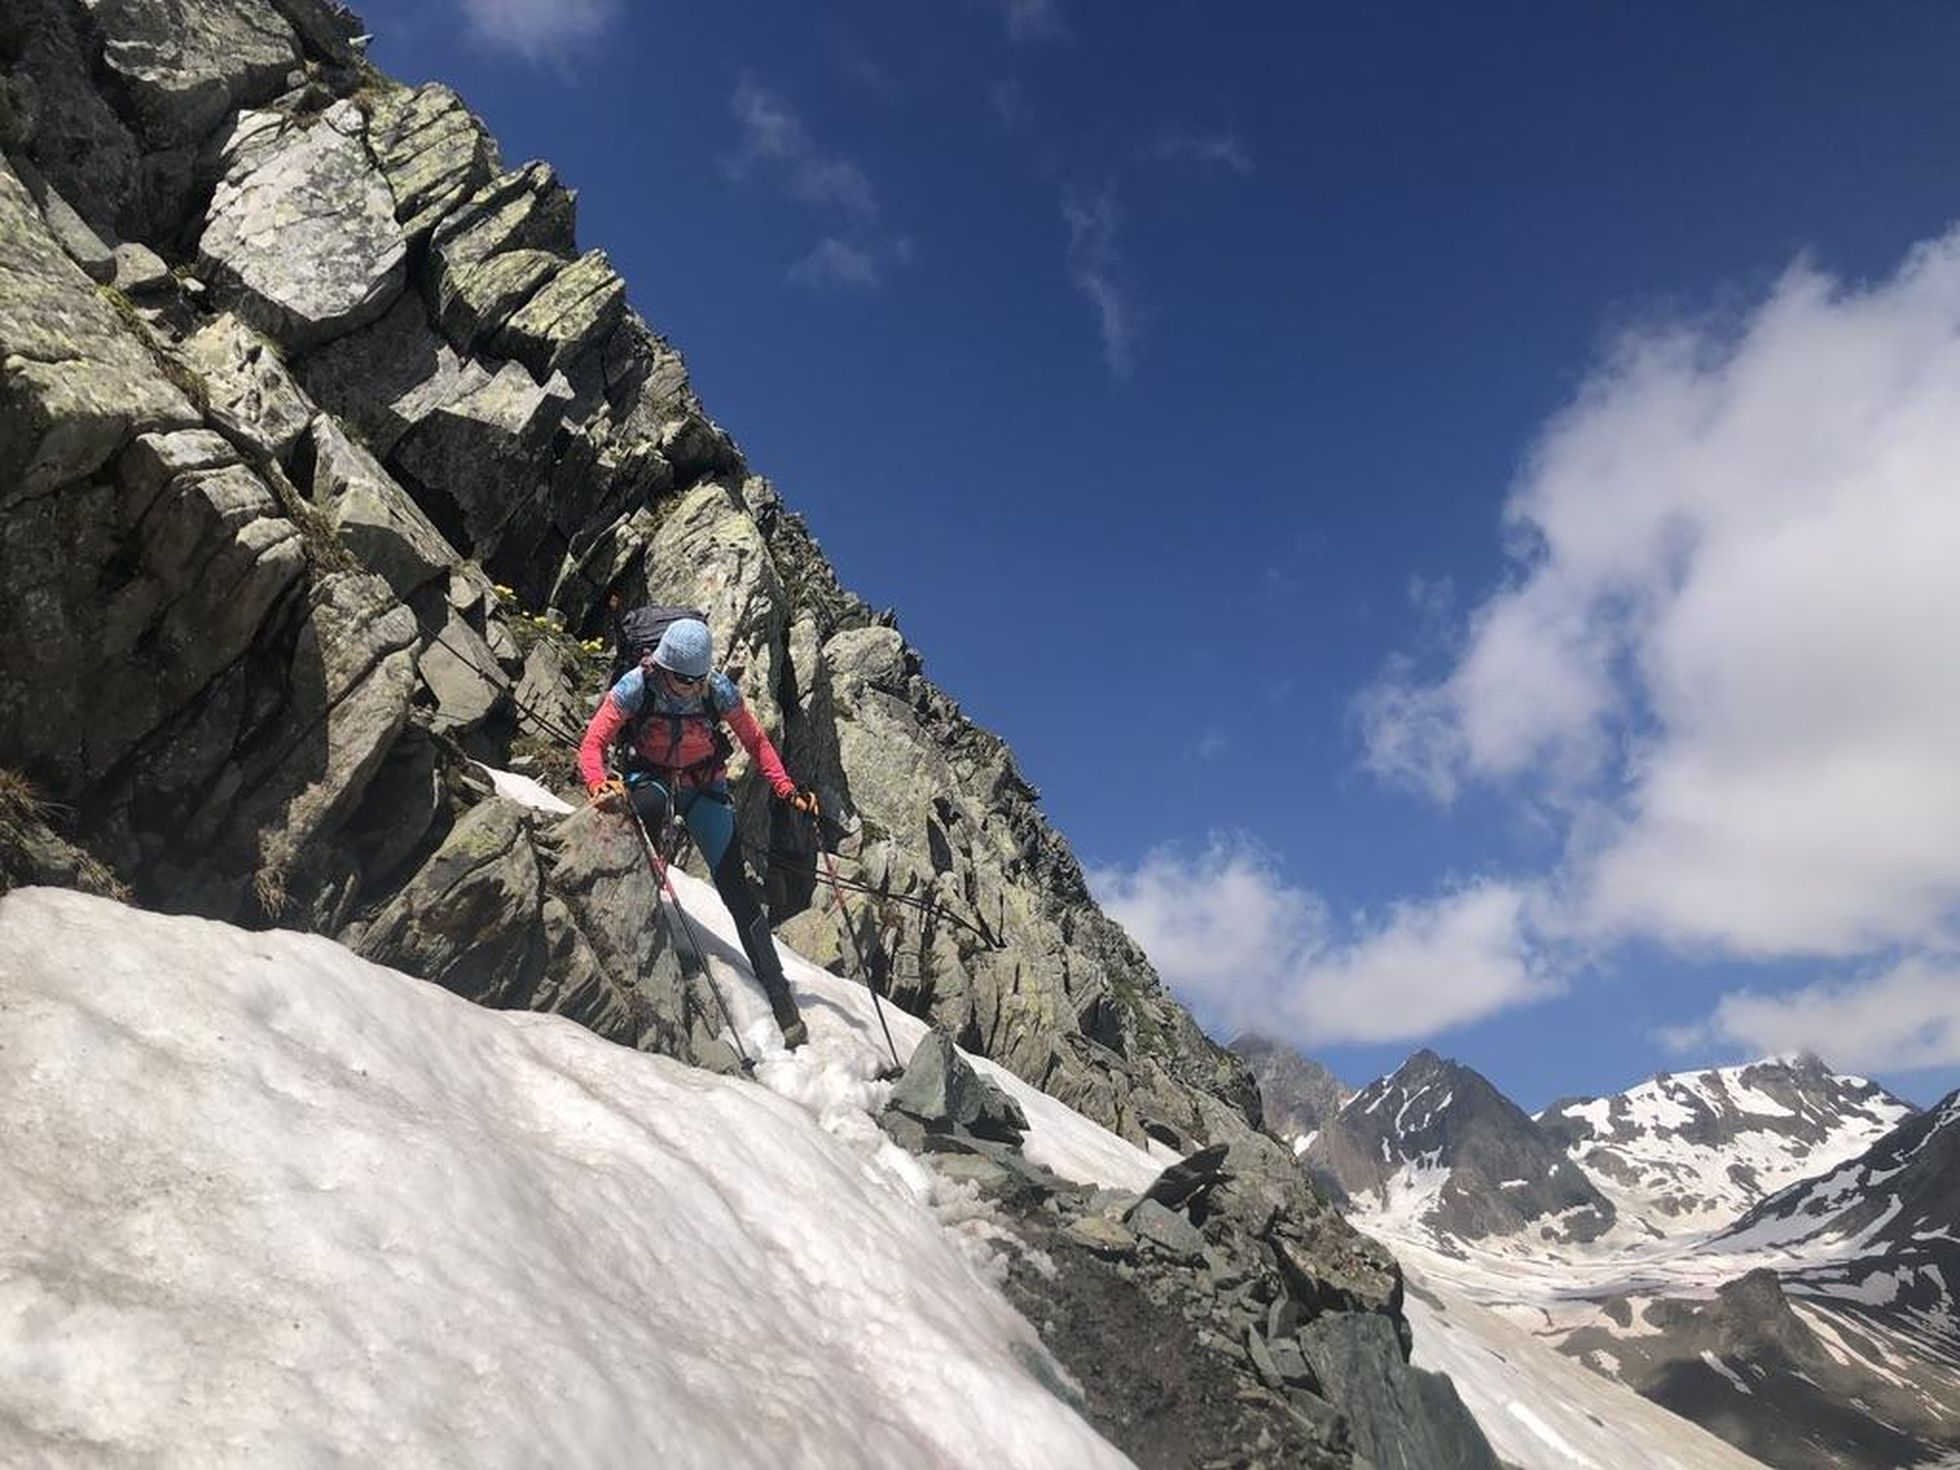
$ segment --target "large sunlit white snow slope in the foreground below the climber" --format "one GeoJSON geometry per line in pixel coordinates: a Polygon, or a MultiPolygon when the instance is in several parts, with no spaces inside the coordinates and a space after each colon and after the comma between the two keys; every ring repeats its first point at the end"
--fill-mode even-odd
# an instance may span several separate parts
{"type": "MultiPolygon", "coordinates": [[[[719,974],[753,1086],[312,935],[0,898],[0,1462],[1127,1464],[872,1123],[868,992],[784,955],[794,1054],[719,974]]],[[[1031,1156],[1154,1178],[980,1066],[1031,1156]]]]}

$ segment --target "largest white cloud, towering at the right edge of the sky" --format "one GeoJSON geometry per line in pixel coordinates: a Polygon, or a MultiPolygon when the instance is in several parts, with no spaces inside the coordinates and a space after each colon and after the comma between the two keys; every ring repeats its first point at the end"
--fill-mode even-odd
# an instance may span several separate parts
{"type": "Polygon", "coordinates": [[[1735,956],[1942,947],[1960,917],[1960,233],[1799,265],[1729,329],[1633,333],[1544,431],[1515,570],[1366,760],[1564,813],[1564,923],[1735,956]]]}

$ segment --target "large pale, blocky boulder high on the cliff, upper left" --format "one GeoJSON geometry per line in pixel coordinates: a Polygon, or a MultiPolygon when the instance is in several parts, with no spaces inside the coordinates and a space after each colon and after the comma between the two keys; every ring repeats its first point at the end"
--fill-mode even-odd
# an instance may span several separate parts
{"type": "Polygon", "coordinates": [[[394,196],[363,125],[353,104],[335,104],[263,161],[233,165],[204,216],[200,270],[292,351],[378,319],[408,278],[394,196]]]}

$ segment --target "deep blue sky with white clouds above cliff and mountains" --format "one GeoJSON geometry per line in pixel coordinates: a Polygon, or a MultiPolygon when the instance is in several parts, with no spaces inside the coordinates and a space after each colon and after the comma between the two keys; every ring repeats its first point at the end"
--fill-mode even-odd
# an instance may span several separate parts
{"type": "Polygon", "coordinates": [[[1213,1033],[1960,1084],[1960,12],[361,10],[1213,1033]]]}

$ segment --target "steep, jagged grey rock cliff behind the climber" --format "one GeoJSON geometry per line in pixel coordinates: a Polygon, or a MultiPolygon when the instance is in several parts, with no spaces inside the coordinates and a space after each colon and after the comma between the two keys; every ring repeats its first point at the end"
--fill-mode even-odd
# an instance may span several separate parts
{"type": "MultiPolygon", "coordinates": [[[[637,839],[476,764],[568,774],[610,610],[706,608],[841,821],[872,978],[1133,1141],[1223,1151],[1288,1333],[1386,1315],[1405,1352],[1394,1264],[708,417],[549,165],[380,76],[327,0],[10,0],[0,147],[0,878],[314,929],[725,1064],[637,839]]],[[[749,786],[741,831],[784,937],[841,958],[809,831],[749,786]]]]}

